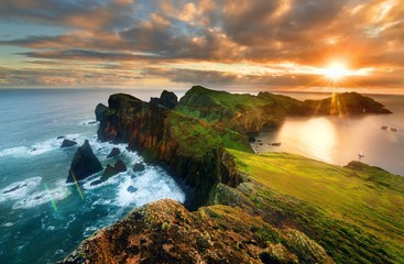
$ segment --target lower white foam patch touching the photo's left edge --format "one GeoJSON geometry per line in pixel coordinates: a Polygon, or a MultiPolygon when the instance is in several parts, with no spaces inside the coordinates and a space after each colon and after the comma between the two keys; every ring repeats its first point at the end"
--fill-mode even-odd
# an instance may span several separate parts
{"type": "Polygon", "coordinates": [[[0,202],[6,200],[17,200],[32,193],[41,184],[42,177],[32,177],[13,183],[0,190],[0,202]],[[19,187],[19,188],[17,188],[19,187]],[[15,190],[12,190],[17,188],[15,190]],[[4,194],[6,193],[6,194],[4,194]]]}

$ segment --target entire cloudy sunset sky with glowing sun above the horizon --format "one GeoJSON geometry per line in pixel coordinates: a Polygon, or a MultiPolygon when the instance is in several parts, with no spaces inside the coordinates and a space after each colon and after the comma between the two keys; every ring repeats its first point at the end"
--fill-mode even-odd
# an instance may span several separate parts
{"type": "Polygon", "coordinates": [[[404,94],[404,0],[1,0],[0,88],[404,94]]]}

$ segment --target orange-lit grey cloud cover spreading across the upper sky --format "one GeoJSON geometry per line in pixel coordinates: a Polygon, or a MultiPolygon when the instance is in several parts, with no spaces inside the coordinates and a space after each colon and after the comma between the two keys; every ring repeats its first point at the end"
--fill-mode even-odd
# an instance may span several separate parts
{"type": "MultiPolygon", "coordinates": [[[[36,64],[43,59],[61,66],[106,63],[108,72],[142,62],[143,73],[153,78],[189,84],[206,79],[226,85],[305,86],[318,80],[287,68],[277,76],[240,75],[215,68],[201,72],[195,65],[321,67],[340,59],[352,68],[372,67],[380,80],[400,87],[403,18],[398,0],[3,0],[0,21],[52,24],[63,33],[2,36],[0,45],[29,48],[17,55],[36,64]]],[[[356,84],[375,86],[374,76],[357,78],[356,84]]]]}

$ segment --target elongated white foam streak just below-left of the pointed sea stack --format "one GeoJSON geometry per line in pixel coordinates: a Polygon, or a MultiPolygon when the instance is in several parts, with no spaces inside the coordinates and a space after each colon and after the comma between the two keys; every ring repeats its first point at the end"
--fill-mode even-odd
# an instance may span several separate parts
{"type": "Polygon", "coordinates": [[[13,205],[13,209],[29,209],[34,208],[40,205],[53,201],[63,200],[70,194],[70,190],[66,186],[61,186],[55,189],[50,189],[48,191],[42,190],[32,194],[31,196],[17,201],[13,205]]]}

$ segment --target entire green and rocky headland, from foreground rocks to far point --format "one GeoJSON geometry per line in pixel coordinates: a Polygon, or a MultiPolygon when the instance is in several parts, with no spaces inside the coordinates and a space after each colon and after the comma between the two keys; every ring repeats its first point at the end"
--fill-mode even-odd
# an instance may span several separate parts
{"type": "Polygon", "coordinates": [[[200,86],[179,101],[112,95],[98,105],[98,139],[128,143],[189,189],[85,240],[62,263],[403,263],[404,177],[287,153],[250,141],[286,117],[386,114],[356,92],[299,101],[200,86]]]}

